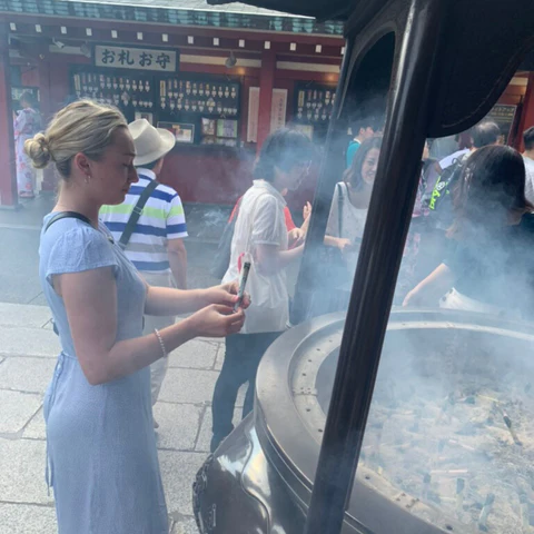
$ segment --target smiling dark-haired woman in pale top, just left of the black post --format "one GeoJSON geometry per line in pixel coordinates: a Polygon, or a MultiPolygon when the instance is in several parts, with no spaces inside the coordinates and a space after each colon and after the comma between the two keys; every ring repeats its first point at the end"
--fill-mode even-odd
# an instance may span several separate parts
{"type": "Polygon", "coordinates": [[[347,263],[354,264],[354,266],[364,235],[367,208],[380,156],[380,145],[382,137],[372,137],[362,142],[353,159],[353,165],[343,176],[343,181],[336,185],[332,201],[325,245],[338,247],[344,253],[347,263]],[[339,195],[342,196],[340,200],[339,195]]]}

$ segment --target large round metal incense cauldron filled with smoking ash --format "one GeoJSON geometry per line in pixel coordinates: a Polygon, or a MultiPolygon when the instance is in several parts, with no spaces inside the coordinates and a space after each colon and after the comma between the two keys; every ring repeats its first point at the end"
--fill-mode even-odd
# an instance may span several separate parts
{"type": "MultiPolygon", "coordinates": [[[[343,326],[319,317],[267,350],[254,416],[197,477],[202,533],[301,532],[343,326]]],[[[528,324],[392,313],[343,532],[534,532],[533,346],[528,324]]]]}

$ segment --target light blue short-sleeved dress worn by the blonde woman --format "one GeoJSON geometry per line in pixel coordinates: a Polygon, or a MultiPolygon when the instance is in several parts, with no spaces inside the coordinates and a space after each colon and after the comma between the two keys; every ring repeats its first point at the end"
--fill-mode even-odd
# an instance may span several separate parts
{"type": "Polygon", "coordinates": [[[52,287],[53,275],[111,267],[117,340],[141,336],[145,285],[110,238],[103,225],[97,230],[72,218],[41,234],[39,276],[61,340],[44,397],[47,482],[53,487],[59,534],[168,534],[149,367],[91,386],[52,287]]]}

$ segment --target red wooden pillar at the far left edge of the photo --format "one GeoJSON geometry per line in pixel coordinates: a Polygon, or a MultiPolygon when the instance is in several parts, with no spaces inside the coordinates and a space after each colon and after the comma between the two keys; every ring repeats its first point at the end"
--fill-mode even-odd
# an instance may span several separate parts
{"type": "Polygon", "coordinates": [[[17,207],[13,111],[9,72],[9,40],[6,23],[0,24],[0,205],[17,207]]]}

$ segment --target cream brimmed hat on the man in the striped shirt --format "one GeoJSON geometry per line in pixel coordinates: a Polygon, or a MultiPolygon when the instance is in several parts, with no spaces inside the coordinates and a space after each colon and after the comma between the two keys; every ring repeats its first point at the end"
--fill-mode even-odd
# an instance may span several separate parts
{"type": "Polygon", "coordinates": [[[161,159],[176,144],[176,138],[170,131],[155,128],[147,119],[130,122],[128,129],[136,145],[137,156],[134,159],[136,167],[161,159]]]}

